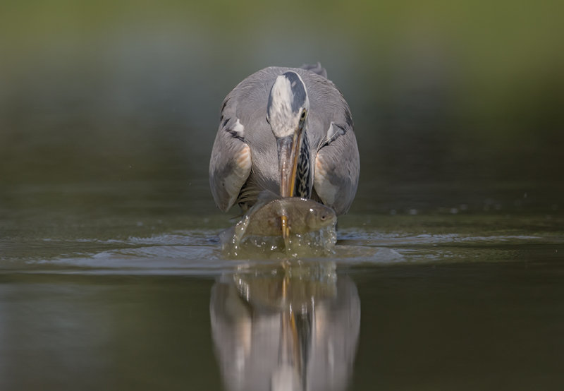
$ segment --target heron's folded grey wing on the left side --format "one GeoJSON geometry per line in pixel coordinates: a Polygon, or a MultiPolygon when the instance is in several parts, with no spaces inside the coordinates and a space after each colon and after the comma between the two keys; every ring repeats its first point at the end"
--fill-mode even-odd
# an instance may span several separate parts
{"type": "Polygon", "coordinates": [[[209,186],[219,209],[226,212],[237,200],[251,172],[251,151],[245,143],[245,127],[233,115],[229,97],[223,102],[221,120],[209,161],[209,186]]]}

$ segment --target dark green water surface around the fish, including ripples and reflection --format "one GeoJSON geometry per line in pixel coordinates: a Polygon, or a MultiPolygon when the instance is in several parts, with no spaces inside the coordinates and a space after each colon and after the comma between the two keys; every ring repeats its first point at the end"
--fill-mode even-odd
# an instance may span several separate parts
{"type": "Polygon", "coordinates": [[[361,194],[332,256],[229,260],[229,216],[205,180],[186,203],[183,186],[4,188],[2,390],[564,384],[558,209],[516,205],[506,186],[465,207],[392,188],[386,213],[361,194]]]}

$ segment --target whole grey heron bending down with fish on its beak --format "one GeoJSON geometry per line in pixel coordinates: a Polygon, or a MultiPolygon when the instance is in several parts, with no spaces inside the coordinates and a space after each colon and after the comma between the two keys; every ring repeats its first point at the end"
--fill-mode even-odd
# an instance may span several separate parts
{"type": "MultiPolygon", "coordinates": [[[[263,190],[348,211],[360,157],[347,102],[317,66],[264,68],[223,100],[209,162],[219,209],[243,211],[263,190]]],[[[284,222],[282,222],[284,226],[284,222]]]]}

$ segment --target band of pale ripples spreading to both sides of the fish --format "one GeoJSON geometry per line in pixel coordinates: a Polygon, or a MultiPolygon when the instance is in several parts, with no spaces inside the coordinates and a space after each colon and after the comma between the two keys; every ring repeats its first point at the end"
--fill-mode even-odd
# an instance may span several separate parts
{"type": "MultiPolygon", "coordinates": [[[[125,239],[39,239],[0,242],[4,270],[42,273],[216,275],[242,263],[268,263],[264,255],[229,260],[221,253],[218,230],[171,231],[125,239]]],[[[543,253],[561,258],[560,236],[502,234],[407,234],[343,229],[333,255],[321,257],[343,267],[405,263],[465,263],[525,260],[543,253]]],[[[274,262],[280,262],[280,260],[274,262]]]]}

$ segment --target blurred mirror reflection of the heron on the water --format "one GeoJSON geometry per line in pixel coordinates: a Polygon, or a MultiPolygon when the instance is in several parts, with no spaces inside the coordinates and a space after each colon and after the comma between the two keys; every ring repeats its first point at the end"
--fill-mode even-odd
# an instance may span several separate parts
{"type": "Polygon", "coordinates": [[[229,390],[344,390],[360,329],[334,263],[240,270],[212,288],[212,337],[229,390]]]}

